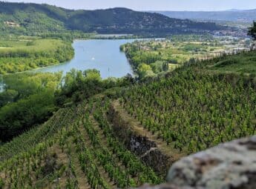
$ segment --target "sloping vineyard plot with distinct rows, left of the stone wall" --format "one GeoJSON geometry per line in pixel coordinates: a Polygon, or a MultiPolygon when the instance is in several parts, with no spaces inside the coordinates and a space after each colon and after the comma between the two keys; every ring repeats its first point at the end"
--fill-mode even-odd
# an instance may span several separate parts
{"type": "Polygon", "coordinates": [[[59,110],[0,147],[0,188],[128,188],[163,178],[114,136],[108,99],[59,110]]]}

